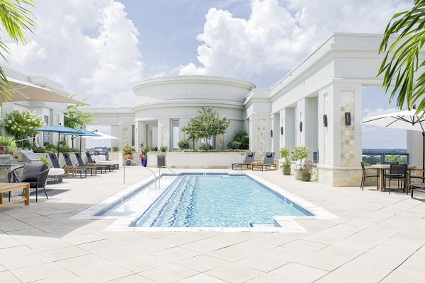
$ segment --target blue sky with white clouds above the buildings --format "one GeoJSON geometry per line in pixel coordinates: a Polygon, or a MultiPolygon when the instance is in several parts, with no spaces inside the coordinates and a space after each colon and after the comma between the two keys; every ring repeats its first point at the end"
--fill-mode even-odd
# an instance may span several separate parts
{"type": "MultiPolygon", "coordinates": [[[[155,76],[231,76],[270,88],[331,33],[382,33],[412,2],[35,0],[38,28],[26,45],[9,43],[7,59],[93,106],[132,106],[132,85],[155,76]]],[[[368,111],[392,108],[370,99],[382,104],[368,111]]]]}

